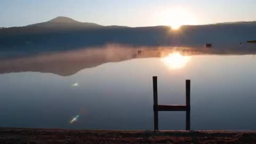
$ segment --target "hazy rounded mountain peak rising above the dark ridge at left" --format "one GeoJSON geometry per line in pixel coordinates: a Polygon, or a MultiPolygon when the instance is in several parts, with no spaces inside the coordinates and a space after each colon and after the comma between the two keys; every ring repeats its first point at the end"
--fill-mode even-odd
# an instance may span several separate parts
{"type": "Polygon", "coordinates": [[[103,27],[97,23],[79,22],[68,17],[57,17],[50,21],[28,25],[26,27],[37,28],[99,28],[103,27]]]}

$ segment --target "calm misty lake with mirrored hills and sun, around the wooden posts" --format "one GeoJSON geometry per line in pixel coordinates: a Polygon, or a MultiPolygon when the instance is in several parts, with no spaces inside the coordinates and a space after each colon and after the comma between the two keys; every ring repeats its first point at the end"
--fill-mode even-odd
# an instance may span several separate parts
{"type": "MultiPolygon", "coordinates": [[[[255,45],[105,45],[0,60],[0,127],[153,130],[158,103],[185,105],[192,130],[256,130],[255,45]]],[[[9,57],[10,56],[10,57],[9,57]]],[[[185,112],[159,112],[160,130],[185,130],[185,112]]]]}

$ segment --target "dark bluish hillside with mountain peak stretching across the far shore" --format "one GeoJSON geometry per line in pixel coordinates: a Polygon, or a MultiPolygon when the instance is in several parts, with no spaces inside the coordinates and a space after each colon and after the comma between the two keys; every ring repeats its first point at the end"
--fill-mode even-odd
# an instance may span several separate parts
{"type": "Polygon", "coordinates": [[[69,50],[107,43],[130,45],[204,45],[238,44],[256,39],[256,22],[218,23],[215,25],[122,27],[100,26],[66,17],[29,25],[0,29],[0,49],[34,51],[69,50]],[[33,50],[31,50],[33,47],[33,50]]]}

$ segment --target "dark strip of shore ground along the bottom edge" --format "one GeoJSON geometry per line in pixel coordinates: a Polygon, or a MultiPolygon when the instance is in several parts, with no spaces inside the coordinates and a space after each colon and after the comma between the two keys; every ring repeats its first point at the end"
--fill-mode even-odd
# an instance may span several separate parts
{"type": "Polygon", "coordinates": [[[0,127],[0,143],[256,143],[256,131],[154,132],[0,127]]]}

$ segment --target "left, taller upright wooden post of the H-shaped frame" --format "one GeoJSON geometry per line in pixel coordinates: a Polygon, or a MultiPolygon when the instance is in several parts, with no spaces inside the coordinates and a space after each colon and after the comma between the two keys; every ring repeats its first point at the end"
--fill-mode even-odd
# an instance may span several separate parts
{"type": "Polygon", "coordinates": [[[157,100],[157,77],[153,76],[153,91],[154,91],[154,130],[158,131],[158,100],[157,100]]]}

